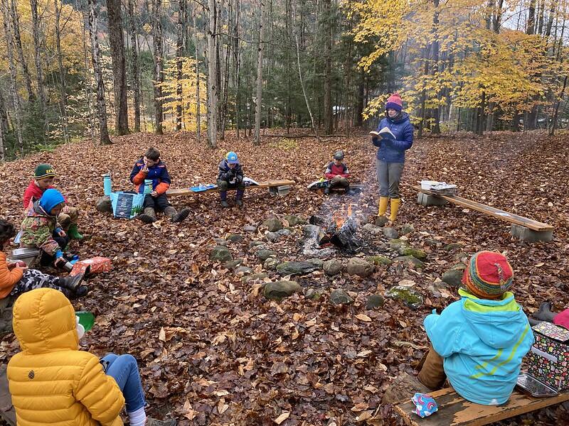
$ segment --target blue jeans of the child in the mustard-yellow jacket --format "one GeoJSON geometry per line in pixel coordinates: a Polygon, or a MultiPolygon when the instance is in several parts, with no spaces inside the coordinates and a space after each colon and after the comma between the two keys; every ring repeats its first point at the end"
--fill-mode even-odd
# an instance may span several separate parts
{"type": "Polygon", "coordinates": [[[138,364],[134,356],[107,354],[101,359],[101,364],[107,376],[112,376],[117,381],[127,403],[127,413],[132,413],[146,405],[138,364]]]}

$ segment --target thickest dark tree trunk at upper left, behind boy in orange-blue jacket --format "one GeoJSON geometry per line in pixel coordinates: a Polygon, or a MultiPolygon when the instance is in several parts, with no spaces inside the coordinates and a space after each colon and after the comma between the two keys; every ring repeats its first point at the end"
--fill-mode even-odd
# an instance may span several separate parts
{"type": "Polygon", "coordinates": [[[107,0],[107,15],[112,57],[113,92],[115,92],[115,131],[119,135],[126,135],[129,133],[129,110],[120,0],[107,0]]]}

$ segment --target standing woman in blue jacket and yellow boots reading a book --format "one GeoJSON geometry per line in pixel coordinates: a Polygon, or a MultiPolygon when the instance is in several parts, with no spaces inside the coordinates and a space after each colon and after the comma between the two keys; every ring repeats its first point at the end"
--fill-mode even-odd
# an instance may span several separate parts
{"type": "Polygon", "coordinates": [[[385,118],[380,121],[377,131],[370,133],[373,145],[378,147],[378,216],[385,215],[390,204],[390,222],[395,222],[401,202],[399,182],[405,163],[405,151],[413,145],[413,125],[409,121],[409,114],[402,110],[401,97],[398,93],[392,94],[385,104],[385,118]]]}

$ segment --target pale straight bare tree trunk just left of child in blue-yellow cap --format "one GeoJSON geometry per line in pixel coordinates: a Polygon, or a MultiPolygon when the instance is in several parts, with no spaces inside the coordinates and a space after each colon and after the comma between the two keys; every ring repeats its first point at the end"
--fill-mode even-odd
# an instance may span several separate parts
{"type": "Polygon", "coordinates": [[[216,3],[217,0],[208,0],[208,145],[210,148],[217,148],[218,146],[218,129],[216,117],[218,110],[218,85],[216,70],[216,3]]]}

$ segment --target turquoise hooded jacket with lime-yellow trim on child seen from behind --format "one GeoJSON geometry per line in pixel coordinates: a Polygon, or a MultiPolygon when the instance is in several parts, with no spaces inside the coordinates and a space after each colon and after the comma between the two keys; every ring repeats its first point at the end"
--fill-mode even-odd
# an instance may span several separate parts
{"type": "Polygon", "coordinates": [[[506,403],[533,344],[528,317],[510,292],[502,300],[479,299],[465,290],[459,295],[462,299],[440,315],[425,318],[432,347],[445,360],[447,378],[462,398],[506,403]]]}

